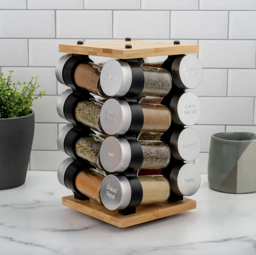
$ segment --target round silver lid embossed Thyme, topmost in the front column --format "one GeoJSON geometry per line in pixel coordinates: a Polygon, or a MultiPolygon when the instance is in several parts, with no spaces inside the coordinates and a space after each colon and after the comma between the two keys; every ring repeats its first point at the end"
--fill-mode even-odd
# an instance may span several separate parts
{"type": "Polygon", "coordinates": [[[133,75],[125,61],[110,59],[101,70],[101,89],[107,96],[124,96],[131,87],[133,75]]]}

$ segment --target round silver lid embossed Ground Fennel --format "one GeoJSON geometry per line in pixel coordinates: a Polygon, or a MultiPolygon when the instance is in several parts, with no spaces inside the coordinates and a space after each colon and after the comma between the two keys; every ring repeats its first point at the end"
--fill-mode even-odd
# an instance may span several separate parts
{"type": "Polygon", "coordinates": [[[123,175],[107,175],[101,183],[100,195],[107,209],[124,209],[131,200],[130,183],[123,175]]]}

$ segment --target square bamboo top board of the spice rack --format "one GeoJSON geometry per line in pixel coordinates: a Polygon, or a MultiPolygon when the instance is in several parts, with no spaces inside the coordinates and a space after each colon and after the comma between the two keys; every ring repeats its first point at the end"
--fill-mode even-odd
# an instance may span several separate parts
{"type": "Polygon", "coordinates": [[[197,53],[199,52],[199,45],[189,43],[173,44],[173,42],[164,41],[115,40],[85,42],[83,44],[59,44],[59,52],[102,56],[109,58],[131,59],[197,53]],[[126,49],[126,44],[131,44],[132,48],[126,49]]]}

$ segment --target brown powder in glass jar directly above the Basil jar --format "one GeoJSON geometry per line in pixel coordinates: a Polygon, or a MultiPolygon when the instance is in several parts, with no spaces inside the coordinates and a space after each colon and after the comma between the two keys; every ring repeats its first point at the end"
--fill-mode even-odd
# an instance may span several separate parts
{"type": "Polygon", "coordinates": [[[141,132],[165,132],[171,125],[171,112],[161,104],[140,104],[144,123],[141,132]]]}

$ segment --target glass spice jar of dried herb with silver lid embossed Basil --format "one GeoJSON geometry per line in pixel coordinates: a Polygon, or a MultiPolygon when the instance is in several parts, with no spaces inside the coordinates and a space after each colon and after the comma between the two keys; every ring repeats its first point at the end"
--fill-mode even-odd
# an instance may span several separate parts
{"type": "MultiPolygon", "coordinates": [[[[162,169],[170,162],[170,149],[162,141],[137,141],[142,150],[142,164],[139,169],[162,169]]],[[[103,168],[108,172],[125,171],[134,157],[129,140],[123,137],[107,137],[100,150],[100,159],[103,168]],[[133,156],[133,158],[132,158],[133,156]]],[[[138,155],[139,157],[139,155],[138,155]]]]}

